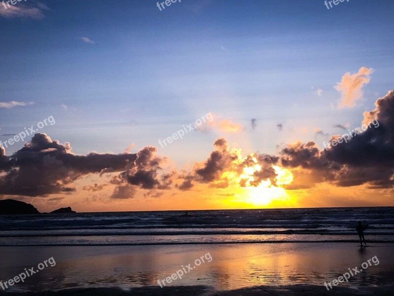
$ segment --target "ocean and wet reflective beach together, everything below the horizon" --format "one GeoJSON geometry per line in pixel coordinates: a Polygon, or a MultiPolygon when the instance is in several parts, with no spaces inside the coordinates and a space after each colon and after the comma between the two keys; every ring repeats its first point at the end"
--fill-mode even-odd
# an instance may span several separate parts
{"type": "Polygon", "coordinates": [[[393,212],[376,207],[2,216],[0,281],[8,287],[0,284],[0,292],[390,295],[393,212]],[[360,219],[369,225],[363,248],[355,231],[360,219]]]}

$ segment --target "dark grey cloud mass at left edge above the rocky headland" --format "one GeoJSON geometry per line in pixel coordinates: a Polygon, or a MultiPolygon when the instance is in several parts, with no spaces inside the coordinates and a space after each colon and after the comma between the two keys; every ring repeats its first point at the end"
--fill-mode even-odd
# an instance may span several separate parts
{"type": "Polygon", "coordinates": [[[5,156],[0,148],[0,194],[42,196],[72,192],[78,178],[111,168],[123,171],[136,154],[75,155],[68,143],[52,141],[46,134],[35,134],[30,143],[5,156]]]}

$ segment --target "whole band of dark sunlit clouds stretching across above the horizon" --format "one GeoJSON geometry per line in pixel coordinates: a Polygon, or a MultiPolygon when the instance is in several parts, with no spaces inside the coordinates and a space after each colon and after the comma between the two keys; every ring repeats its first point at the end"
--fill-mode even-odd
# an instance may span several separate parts
{"type": "MultiPolygon", "coordinates": [[[[111,198],[126,199],[139,189],[145,196],[159,197],[171,188],[192,190],[196,185],[224,189],[259,186],[263,182],[287,189],[312,187],[319,183],[348,187],[366,184],[369,188],[394,187],[394,91],[364,112],[363,124],[371,125],[348,143],[320,150],[315,142],[296,142],[281,149],[278,155],[251,153],[242,156],[241,149],[230,148],[224,138],[213,143],[205,161],[195,162],[191,169],[168,170],[166,157],[157,156],[157,148],[145,147],[137,153],[75,155],[69,143],[52,141],[45,134],[35,134],[11,156],[0,147],[0,195],[46,196],[75,191],[74,182],[88,174],[112,172],[103,185],[86,185],[87,191],[100,191],[116,185],[111,198]],[[294,181],[278,181],[277,166],[290,170],[294,181]],[[159,192],[159,193],[158,193],[159,192]]],[[[315,129],[315,133],[322,132],[315,129]]],[[[327,135],[322,132],[323,135],[327,135]]],[[[332,136],[331,139],[338,136],[332,136]]]]}

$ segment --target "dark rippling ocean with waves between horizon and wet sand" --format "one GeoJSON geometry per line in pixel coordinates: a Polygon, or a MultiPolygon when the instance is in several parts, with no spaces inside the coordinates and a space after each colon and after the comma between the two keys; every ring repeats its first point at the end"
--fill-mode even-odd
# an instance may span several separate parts
{"type": "Polygon", "coordinates": [[[394,242],[394,207],[0,216],[0,246],[394,242]]]}

